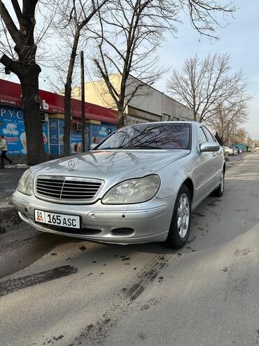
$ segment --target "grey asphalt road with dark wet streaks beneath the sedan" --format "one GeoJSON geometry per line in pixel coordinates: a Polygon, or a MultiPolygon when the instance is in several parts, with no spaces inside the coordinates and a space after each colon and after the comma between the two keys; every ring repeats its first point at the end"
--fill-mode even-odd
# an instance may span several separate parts
{"type": "Polygon", "coordinates": [[[0,345],[257,345],[258,192],[246,154],[181,251],[1,235],[0,345]]]}

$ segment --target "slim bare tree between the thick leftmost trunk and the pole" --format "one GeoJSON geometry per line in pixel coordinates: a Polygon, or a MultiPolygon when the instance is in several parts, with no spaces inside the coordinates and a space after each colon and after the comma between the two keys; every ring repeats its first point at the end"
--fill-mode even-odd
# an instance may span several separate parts
{"type": "Polygon", "coordinates": [[[85,46],[85,27],[95,13],[109,0],[59,1],[57,16],[52,23],[59,35],[55,55],[59,77],[64,81],[64,155],[70,154],[71,87],[79,48],[85,46]],[[84,40],[84,41],[82,41],[84,40]]]}

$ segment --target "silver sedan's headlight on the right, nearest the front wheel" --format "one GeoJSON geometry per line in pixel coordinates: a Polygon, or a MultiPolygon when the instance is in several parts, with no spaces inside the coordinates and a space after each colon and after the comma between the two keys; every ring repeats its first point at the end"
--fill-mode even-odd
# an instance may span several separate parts
{"type": "Polygon", "coordinates": [[[113,186],[104,196],[104,204],[141,203],[152,199],[160,187],[158,175],[129,179],[113,186]]]}

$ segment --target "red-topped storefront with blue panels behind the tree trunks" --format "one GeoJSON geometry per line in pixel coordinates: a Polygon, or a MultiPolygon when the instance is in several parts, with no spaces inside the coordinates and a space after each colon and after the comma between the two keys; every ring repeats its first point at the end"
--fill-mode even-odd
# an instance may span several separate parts
{"type": "MultiPolygon", "coordinates": [[[[20,84],[0,79],[0,135],[6,137],[8,154],[27,154],[25,123],[20,102],[20,84]]],[[[39,91],[45,152],[51,156],[64,152],[64,96],[39,91]]],[[[81,102],[71,99],[71,154],[81,152],[81,102]]],[[[85,102],[87,149],[94,142],[106,138],[116,129],[117,112],[113,109],[85,102]]]]}

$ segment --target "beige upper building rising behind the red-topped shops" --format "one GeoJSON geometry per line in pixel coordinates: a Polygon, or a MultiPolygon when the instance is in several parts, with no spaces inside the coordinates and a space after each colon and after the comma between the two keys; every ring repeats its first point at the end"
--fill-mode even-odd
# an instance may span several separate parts
{"type": "MultiPolygon", "coordinates": [[[[116,91],[119,92],[120,74],[113,74],[110,79],[116,91]]],[[[73,88],[72,95],[73,98],[80,100],[80,87],[73,88]]],[[[133,76],[130,76],[127,81],[126,99],[129,100],[125,108],[127,124],[145,121],[193,120],[193,111],[190,108],[133,76]],[[141,84],[141,88],[131,98],[139,84],[141,84]]],[[[116,109],[116,103],[108,92],[103,79],[85,83],[85,100],[96,105],[116,109]]]]}

